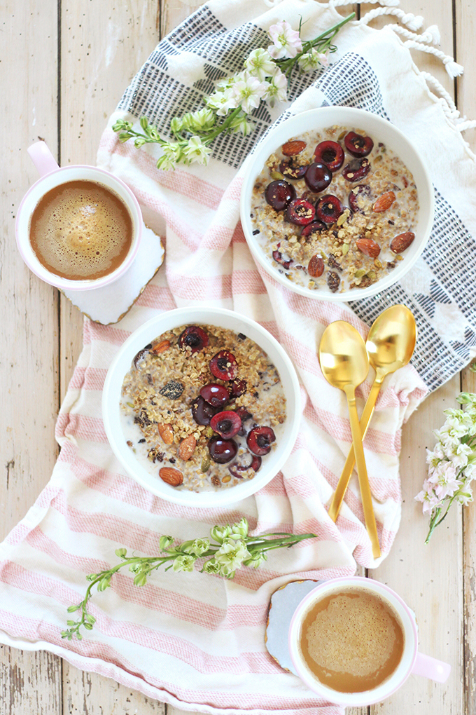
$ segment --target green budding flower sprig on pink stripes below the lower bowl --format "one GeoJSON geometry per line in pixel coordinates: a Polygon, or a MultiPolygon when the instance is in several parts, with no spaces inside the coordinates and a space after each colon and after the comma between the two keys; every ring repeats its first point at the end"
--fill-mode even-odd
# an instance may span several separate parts
{"type": "Polygon", "coordinates": [[[96,618],[88,613],[88,601],[91,599],[92,589],[96,586],[98,591],[105,591],[108,586],[111,586],[113,575],[124,566],[128,566],[129,571],[135,574],[134,586],[145,586],[151,572],[166,564],[166,571],[169,568],[173,571],[193,571],[198,559],[206,559],[201,563],[201,572],[233,578],[236,570],[241,566],[258,568],[268,558],[267,551],[275,548],[290,548],[307,538],[315,538],[315,534],[288,534],[275,531],[261,536],[250,536],[248,521],[242,518],[231,526],[213,526],[210,530],[210,538],[183,541],[178,546],[174,546],[175,539],[172,536],[161,536],[158,546],[163,556],[127,556],[125,548],[118,548],[116,556],[121,558],[121,563],[86,576],[91,583],[86,589],[83,601],[77,606],[68,608],[68,613],[80,611],[79,618],[67,622],[69,628],[67,631],[61,631],[61,637],[71,641],[71,638],[76,636],[81,640],[83,636],[80,630],[83,626],[86,631],[92,630],[96,621],[96,618]]]}

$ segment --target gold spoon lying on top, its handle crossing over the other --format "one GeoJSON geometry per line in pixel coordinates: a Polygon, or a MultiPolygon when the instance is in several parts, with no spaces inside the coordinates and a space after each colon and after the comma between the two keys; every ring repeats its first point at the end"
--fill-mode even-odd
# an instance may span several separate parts
{"type": "Polygon", "coordinates": [[[367,467],[360,432],[357,406],[355,405],[355,388],[367,377],[369,361],[365,342],[355,327],[344,320],[331,322],[323,332],[319,345],[320,369],[325,379],[345,392],[349,408],[350,430],[357,462],[360,494],[364,511],[365,526],[372,543],[374,558],[380,556],[377,525],[373,513],[372,495],[368,482],[367,467]]]}

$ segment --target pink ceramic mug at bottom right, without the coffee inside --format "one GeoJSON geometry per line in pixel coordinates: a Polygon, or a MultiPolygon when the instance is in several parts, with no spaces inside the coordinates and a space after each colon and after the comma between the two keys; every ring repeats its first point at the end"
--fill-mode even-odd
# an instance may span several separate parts
{"type": "Polygon", "coordinates": [[[310,591],[296,608],[290,623],[288,634],[288,645],[291,659],[295,667],[295,672],[301,680],[320,695],[323,699],[338,705],[345,706],[366,706],[378,703],[393,694],[405,682],[410,673],[425,676],[439,683],[444,683],[450,675],[450,666],[435,658],[425,656],[418,651],[418,635],[415,615],[410,608],[402,601],[402,598],[385,586],[385,583],[373,581],[372,578],[360,578],[352,576],[349,578],[331,578],[323,581],[319,586],[310,591]],[[342,591],[363,591],[373,593],[390,606],[390,611],[395,611],[400,620],[405,636],[400,663],[392,674],[371,690],[353,693],[341,693],[328,686],[325,686],[309,669],[302,654],[300,653],[300,637],[303,620],[309,609],[325,596],[331,593],[342,591]]]}

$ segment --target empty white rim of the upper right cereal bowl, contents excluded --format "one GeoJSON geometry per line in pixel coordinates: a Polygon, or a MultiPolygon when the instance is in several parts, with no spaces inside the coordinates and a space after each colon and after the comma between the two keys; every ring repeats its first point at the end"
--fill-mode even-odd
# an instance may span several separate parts
{"type": "MultiPolygon", "coordinates": [[[[341,123],[340,120],[339,123],[341,123]]],[[[313,129],[312,124],[307,127],[307,129],[313,129]]],[[[304,130],[300,129],[298,131],[302,132],[304,130]]],[[[393,146],[391,148],[396,154],[398,154],[397,149],[393,146]]],[[[405,163],[408,164],[409,162],[405,163]]],[[[358,107],[343,107],[338,104],[333,104],[327,107],[315,107],[315,109],[306,109],[304,112],[293,114],[291,117],[288,117],[288,119],[285,119],[283,122],[280,122],[280,124],[277,124],[275,127],[270,129],[269,133],[260,139],[260,142],[258,142],[255,149],[253,149],[252,154],[248,157],[246,167],[248,171],[245,173],[245,179],[243,180],[240,194],[240,220],[246,242],[250,247],[253,257],[255,257],[255,260],[257,260],[258,263],[265,269],[265,272],[267,272],[268,275],[273,277],[273,279],[281,285],[287,286],[290,290],[299,293],[300,295],[305,295],[317,300],[330,300],[336,302],[363,300],[364,298],[376,295],[380,291],[386,290],[391,285],[395,285],[395,283],[410,270],[412,265],[415,264],[417,259],[422,254],[422,251],[425,249],[427,241],[430,238],[433,218],[435,215],[435,194],[430,178],[430,172],[428,172],[426,164],[420,153],[415,148],[415,145],[412,144],[406,134],[398,129],[398,127],[395,127],[395,124],[392,124],[388,119],[380,117],[380,114],[374,114],[373,112],[368,112],[368,110],[360,109],[358,107]],[[378,282],[373,283],[373,285],[370,285],[367,288],[353,288],[343,293],[333,293],[330,290],[325,290],[323,288],[313,290],[302,285],[297,285],[293,281],[288,280],[285,275],[280,273],[278,268],[272,264],[270,259],[265,256],[265,253],[258,245],[258,242],[255,241],[251,230],[249,211],[250,197],[253,191],[255,179],[258,177],[258,174],[263,168],[265,160],[268,158],[270,153],[273,152],[273,149],[278,147],[280,142],[285,141],[285,138],[293,136],[293,133],[297,133],[293,132],[293,127],[296,124],[305,123],[308,119],[309,121],[312,121],[315,117],[322,117],[323,122],[319,122],[318,126],[316,127],[314,125],[314,127],[315,129],[319,129],[320,127],[324,128],[325,126],[328,126],[329,122],[332,124],[337,123],[335,119],[336,113],[338,113],[340,117],[343,117],[342,123],[352,122],[355,126],[358,122],[363,122],[363,124],[365,124],[365,121],[367,120],[368,122],[375,122],[375,125],[382,128],[383,131],[390,127],[390,132],[393,132],[395,137],[405,145],[406,150],[409,150],[412,153],[412,159],[415,164],[417,164],[418,169],[422,174],[422,183],[417,184],[420,200],[420,215],[417,226],[418,241],[414,242],[414,246],[412,245],[412,247],[410,247],[409,250],[411,250],[411,254],[406,255],[405,260],[399,262],[399,265],[397,265],[391,273],[381,278],[378,282]],[[326,120],[325,117],[333,117],[333,119],[326,120]],[[281,134],[283,134],[283,137],[280,137],[281,134]],[[256,170],[256,168],[253,167],[259,168],[256,170]],[[427,220],[424,225],[421,224],[423,200],[426,202],[427,206],[427,220]]],[[[410,169],[410,167],[408,168],[410,169]]],[[[414,169],[415,167],[412,167],[410,170],[412,170],[412,173],[415,175],[414,169]]]]}

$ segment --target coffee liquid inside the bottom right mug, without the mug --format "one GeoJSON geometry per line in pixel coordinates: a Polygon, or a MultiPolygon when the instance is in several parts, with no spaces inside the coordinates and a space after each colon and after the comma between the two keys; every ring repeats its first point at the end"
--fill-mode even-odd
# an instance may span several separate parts
{"type": "Polygon", "coordinates": [[[396,611],[379,596],[345,589],[313,603],[303,616],[300,653],[328,688],[371,690],[395,671],[405,645],[396,611]]]}

